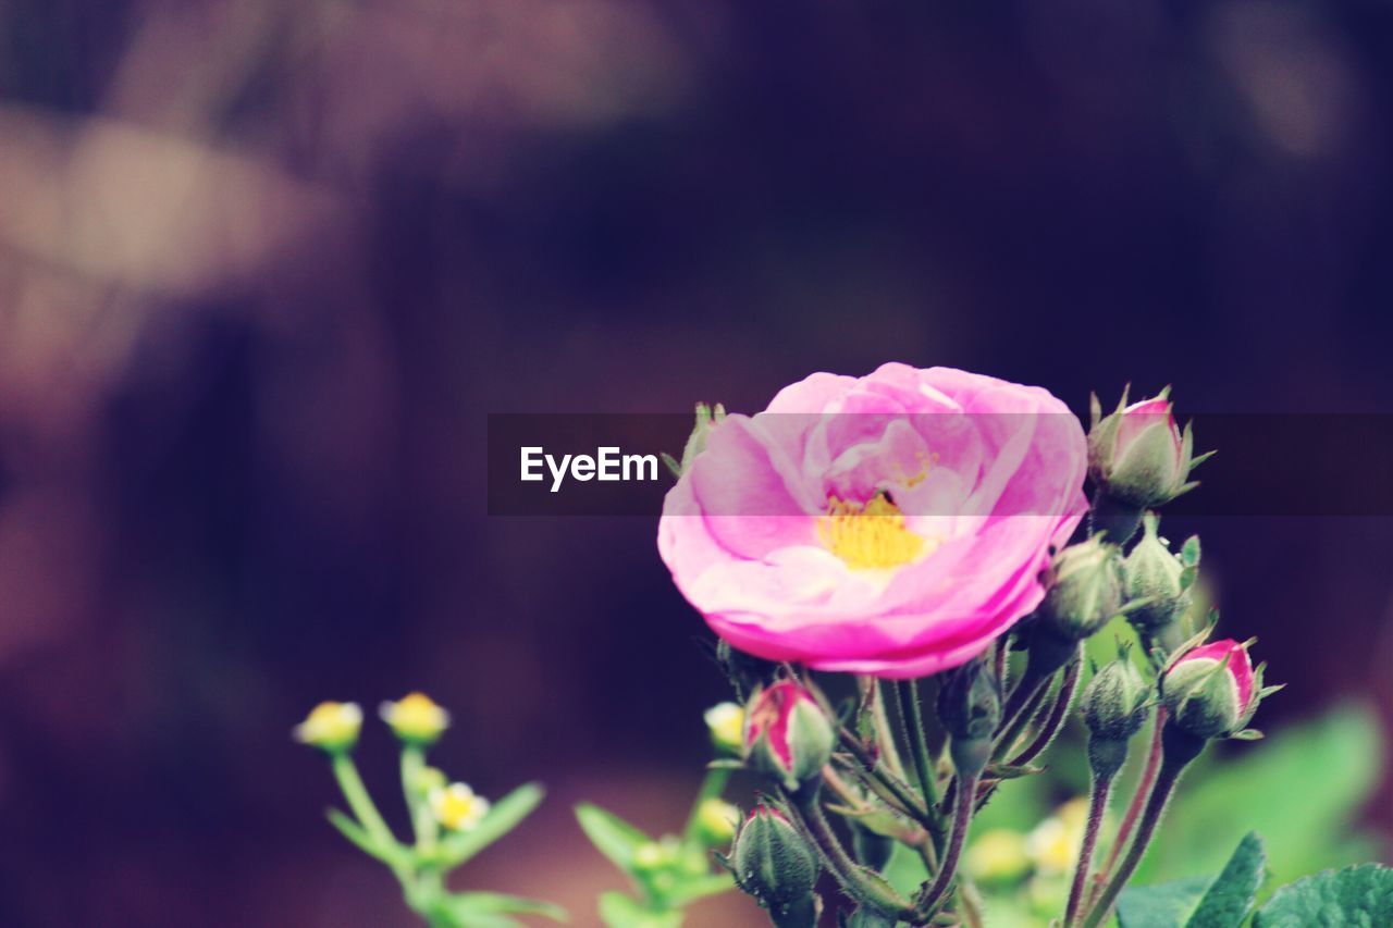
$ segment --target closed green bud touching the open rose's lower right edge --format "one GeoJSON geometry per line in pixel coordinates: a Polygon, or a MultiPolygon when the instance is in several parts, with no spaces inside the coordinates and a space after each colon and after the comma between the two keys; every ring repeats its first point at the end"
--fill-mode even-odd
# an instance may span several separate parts
{"type": "Polygon", "coordinates": [[[1095,535],[1055,555],[1039,614],[1066,641],[1082,641],[1121,612],[1123,574],[1117,546],[1095,535]]]}

